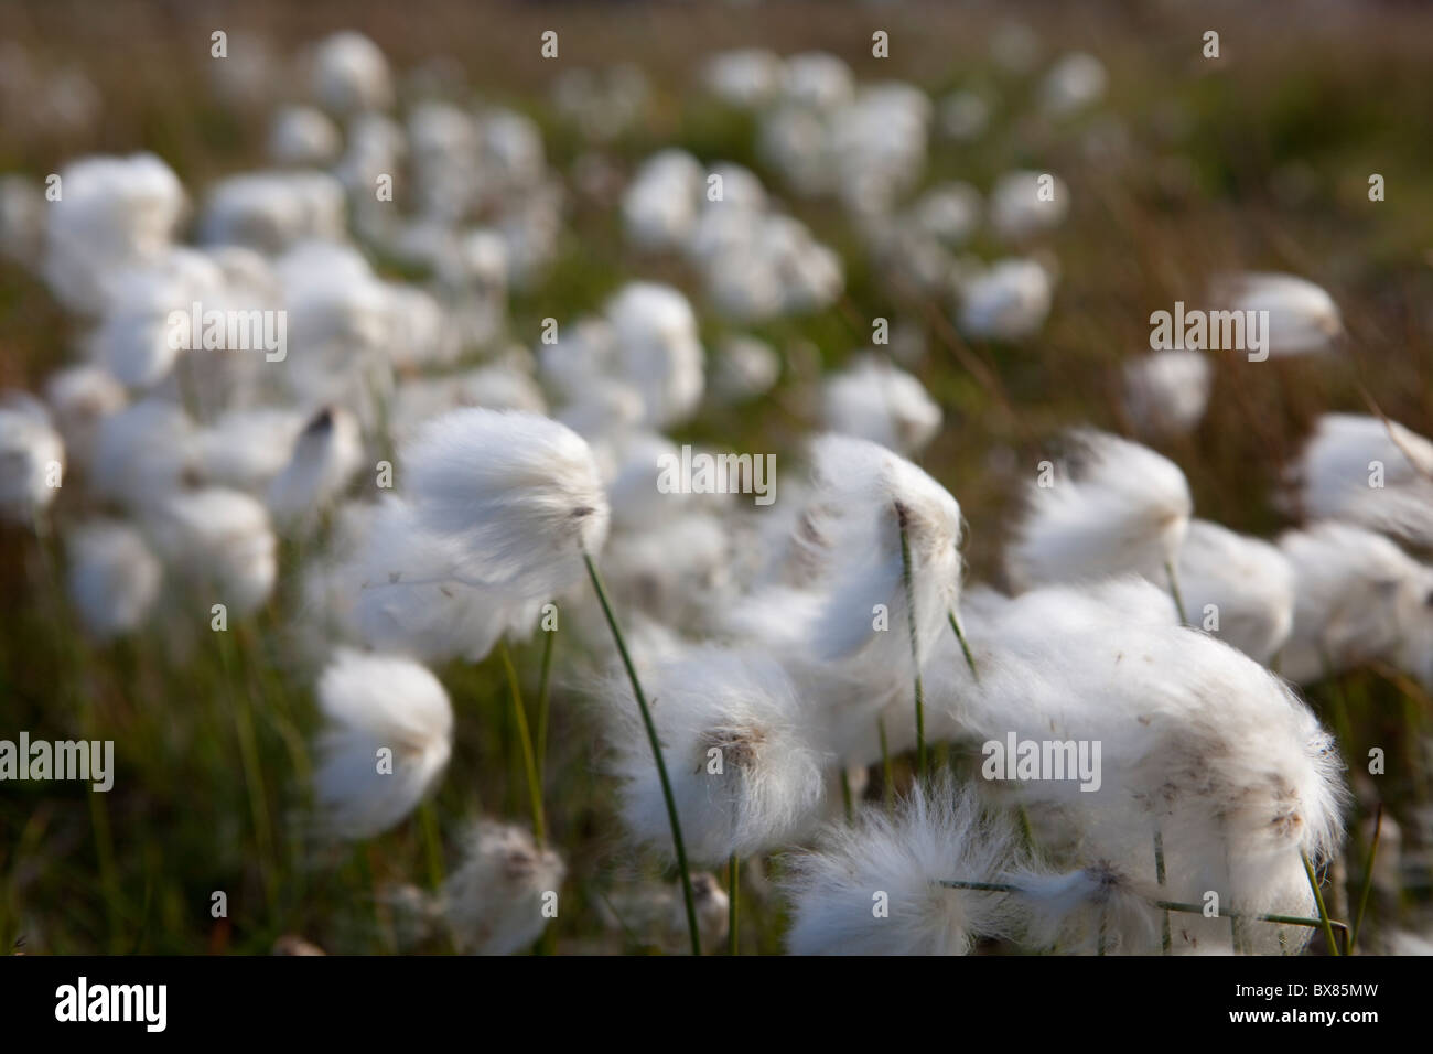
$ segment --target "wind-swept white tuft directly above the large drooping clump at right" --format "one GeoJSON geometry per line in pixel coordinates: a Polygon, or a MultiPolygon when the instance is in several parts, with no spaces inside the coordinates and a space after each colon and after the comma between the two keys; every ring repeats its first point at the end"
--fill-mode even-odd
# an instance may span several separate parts
{"type": "Polygon", "coordinates": [[[1092,429],[1070,433],[1053,465],[1026,488],[1026,508],[1006,549],[1019,588],[1123,572],[1168,581],[1194,512],[1179,466],[1149,447],[1092,429]]]}

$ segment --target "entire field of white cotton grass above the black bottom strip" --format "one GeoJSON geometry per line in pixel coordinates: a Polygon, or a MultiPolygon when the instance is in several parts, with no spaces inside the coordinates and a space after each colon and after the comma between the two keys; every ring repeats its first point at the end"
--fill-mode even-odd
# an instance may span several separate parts
{"type": "Polygon", "coordinates": [[[1433,949],[1433,11],[1250,7],[0,10],[4,948],[1433,949]]]}

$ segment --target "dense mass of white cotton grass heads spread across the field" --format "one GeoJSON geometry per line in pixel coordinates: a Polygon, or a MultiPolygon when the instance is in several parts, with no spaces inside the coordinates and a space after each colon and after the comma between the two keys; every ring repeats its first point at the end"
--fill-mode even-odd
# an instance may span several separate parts
{"type": "MultiPolygon", "coordinates": [[[[555,340],[509,346],[509,290],[540,281],[563,222],[536,126],[438,98],[397,112],[385,59],[358,34],[321,43],[310,70],[310,98],[275,110],[275,168],[196,188],[193,245],[179,241],[193,202],[162,159],[64,168],[30,260],[86,324],[86,357],[44,402],[0,403],[0,513],[49,543],[47,473],[75,470],[99,512],[57,519],[67,591],[100,638],[211,605],[271,614],[281,569],[292,578],[322,717],[321,837],[374,837],[463,779],[453,741],[469,716],[440,664],[502,655],[530,815],[466,817],[456,869],[394,893],[418,939],[507,954],[555,916],[569,862],[543,825],[543,740],[507,645],[570,631],[556,677],[590,700],[623,836],[681,879],[648,880],[642,906],[631,892],[593,906],[605,921],[663,944],[691,925],[711,945],[747,866],[788,906],[797,954],[1304,946],[1313,926],[1287,916],[1323,912],[1311,878],[1340,852],[1347,792],[1297,685],[1373,661],[1433,685],[1433,569],[1393,541],[1433,536],[1433,445],[1323,419],[1285,495],[1308,522],[1264,541],[1197,519],[1169,457],[1075,427],[1010,523],[973,525],[1009,539],[1002,591],[964,581],[962,506],[911,460],[940,404],[873,348],[820,381],[814,435],[771,480],[770,512],[666,492],[658,467],[681,453],[668,433],[768,394],[782,357],[742,337],[709,364],[698,308],[652,281],[555,320],[555,340]],[[375,208],[374,178],[404,156],[417,206],[375,208]],[[431,277],[380,277],[373,254],[431,277]],[[193,300],[287,311],[288,359],[175,348],[168,313],[193,300]],[[983,746],[1007,737],[1098,744],[1098,787],[986,773],[983,746]],[[897,787],[906,754],[914,774],[897,787]],[[864,793],[877,766],[884,803],[864,793]],[[1214,918],[1169,906],[1209,893],[1214,918]]],[[[1046,199],[1040,174],[1016,171],[984,199],[949,184],[909,201],[927,138],[979,135],[979,99],[937,109],[817,53],[725,53],[702,79],[752,112],[791,191],[837,202],[893,281],[940,291],[966,337],[1039,333],[1059,265],[1035,242],[1069,188],[1046,199]],[[1005,255],[964,252],[980,227],[1005,255]]],[[[1096,59],[1066,56],[1037,105],[1058,119],[1103,85],[1096,59]]],[[[556,98],[602,138],[639,119],[643,89],[599,77],[556,98]]],[[[618,205],[632,248],[685,260],[701,307],[737,324],[834,305],[840,255],[754,172],[718,165],[721,198],[708,174],[682,151],[645,159],[618,205]]],[[[1228,275],[1211,298],[1271,310],[1280,356],[1341,331],[1333,300],[1290,275],[1228,275]]],[[[1182,436],[1211,366],[1156,353],[1123,381],[1142,436],[1182,436]]]]}

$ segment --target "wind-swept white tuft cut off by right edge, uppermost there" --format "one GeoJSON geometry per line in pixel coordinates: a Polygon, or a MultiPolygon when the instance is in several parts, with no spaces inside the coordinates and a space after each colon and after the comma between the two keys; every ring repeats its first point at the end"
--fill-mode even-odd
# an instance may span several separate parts
{"type": "Polygon", "coordinates": [[[1326,413],[1288,476],[1310,519],[1433,545],[1433,443],[1397,422],[1326,413]]]}

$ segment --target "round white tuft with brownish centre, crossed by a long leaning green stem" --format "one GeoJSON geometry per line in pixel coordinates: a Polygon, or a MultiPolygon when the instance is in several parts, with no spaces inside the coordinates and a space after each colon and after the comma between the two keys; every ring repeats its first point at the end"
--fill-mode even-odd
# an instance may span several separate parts
{"type": "MultiPolygon", "coordinates": [[[[795,688],[758,651],[694,650],[643,680],[666,759],[682,837],[698,862],[770,852],[818,820],[824,757],[813,746],[795,688]]],[[[642,843],[671,849],[652,750],[626,681],[608,693],[612,767],[622,819],[642,843]]]]}

